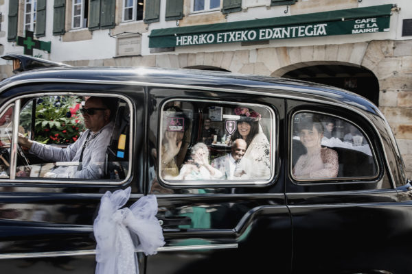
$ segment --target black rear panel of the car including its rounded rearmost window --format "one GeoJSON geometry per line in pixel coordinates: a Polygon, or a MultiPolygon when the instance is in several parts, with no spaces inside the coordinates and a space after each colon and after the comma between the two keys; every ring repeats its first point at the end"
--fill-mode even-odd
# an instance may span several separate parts
{"type": "Polygon", "coordinates": [[[387,166],[392,152],[384,144],[391,138],[372,120],[385,123],[353,108],[288,102],[286,197],[293,219],[293,273],[409,272],[396,259],[403,257],[400,238],[411,227],[387,166]],[[318,132],[314,124],[333,130],[318,132]],[[308,130],[322,134],[318,158],[305,139],[308,130]],[[328,172],[317,171],[317,159],[328,172]]]}

